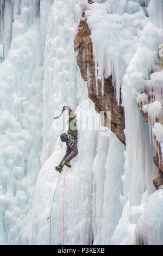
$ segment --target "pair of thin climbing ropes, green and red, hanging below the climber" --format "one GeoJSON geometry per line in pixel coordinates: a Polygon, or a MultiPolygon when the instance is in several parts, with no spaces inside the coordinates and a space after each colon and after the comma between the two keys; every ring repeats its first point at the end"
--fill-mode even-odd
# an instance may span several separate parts
{"type": "MultiPolygon", "coordinates": [[[[64,168],[65,168],[65,166],[64,166],[64,168]]],[[[64,168],[63,168],[62,172],[60,173],[60,176],[59,176],[59,179],[58,179],[58,182],[57,182],[57,186],[55,187],[55,190],[54,190],[53,202],[52,202],[52,207],[51,207],[51,214],[50,214],[50,216],[46,219],[46,220],[48,221],[48,219],[50,218],[50,245],[51,245],[51,241],[52,241],[52,210],[53,210],[55,192],[56,192],[56,190],[57,190],[57,187],[58,187],[58,184],[59,184],[59,180],[60,180],[60,178],[61,178],[61,175],[62,175],[62,173],[64,172],[64,168]]],[[[68,167],[67,167],[67,169],[68,169],[68,167]]],[[[66,169],[66,173],[67,173],[67,169],[66,169]]],[[[64,176],[63,245],[64,245],[64,221],[65,221],[65,177],[66,177],[66,173],[65,173],[65,176],[64,176]]]]}

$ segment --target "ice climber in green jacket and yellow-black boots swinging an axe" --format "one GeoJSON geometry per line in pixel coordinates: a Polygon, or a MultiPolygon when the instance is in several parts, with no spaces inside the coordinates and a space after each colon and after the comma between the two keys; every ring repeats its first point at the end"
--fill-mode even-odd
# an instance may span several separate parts
{"type": "Polygon", "coordinates": [[[55,167],[59,173],[61,173],[64,166],[71,168],[70,161],[78,154],[77,139],[78,139],[78,130],[77,130],[77,114],[70,107],[64,106],[62,112],[68,111],[68,134],[63,132],[60,136],[62,142],[65,142],[67,145],[66,155],[61,160],[59,166],[55,167]]]}

